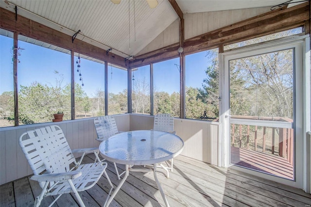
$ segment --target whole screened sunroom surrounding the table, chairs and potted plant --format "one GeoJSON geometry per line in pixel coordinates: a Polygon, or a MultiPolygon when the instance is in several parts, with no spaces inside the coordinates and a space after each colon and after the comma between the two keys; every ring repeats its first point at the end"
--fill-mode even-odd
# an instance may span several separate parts
{"type": "MultiPolygon", "coordinates": [[[[158,175],[171,206],[310,206],[310,13],[310,0],[0,0],[0,205],[37,196],[25,131],[98,147],[95,117],[135,131],[170,113],[184,141],[158,175]]],[[[106,184],[84,203],[103,206],[106,184]]],[[[131,172],[111,205],[165,206],[159,193],[131,172]]]]}

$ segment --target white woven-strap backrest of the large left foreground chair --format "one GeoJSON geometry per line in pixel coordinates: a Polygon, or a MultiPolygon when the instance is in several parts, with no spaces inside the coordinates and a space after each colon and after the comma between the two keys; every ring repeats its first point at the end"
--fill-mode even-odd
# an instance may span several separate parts
{"type": "MultiPolygon", "coordinates": [[[[23,133],[19,137],[19,145],[35,175],[45,171],[68,172],[69,165],[75,162],[62,129],[56,125],[23,133]]],[[[42,183],[39,184],[43,187],[42,183]]]]}

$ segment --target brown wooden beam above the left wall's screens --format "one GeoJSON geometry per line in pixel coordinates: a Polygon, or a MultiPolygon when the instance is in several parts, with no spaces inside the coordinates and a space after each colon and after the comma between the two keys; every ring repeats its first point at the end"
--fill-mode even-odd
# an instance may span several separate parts
{"type": "Polygon", "coordinates": [[[111,52],[106,53],[106,50],[83,42],[77,38],[72,43],[70,35],[54,30],[23,16],[17,15],[17,21],[15,21],[15,13],[3,8],[0,8],[0,28],[11,32],[17,32],[18,34],[60,48],[73,50],[74,52],[96,58],[101,61],[107,61],[108,63],[128,68],[128,61],[125,62],[124,58],[119,55],[111,52]]]}

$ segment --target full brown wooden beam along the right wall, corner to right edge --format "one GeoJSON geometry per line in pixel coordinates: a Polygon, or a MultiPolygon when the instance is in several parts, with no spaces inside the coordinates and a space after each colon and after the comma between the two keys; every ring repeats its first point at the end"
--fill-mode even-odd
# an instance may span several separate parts
{"type": "MultiPolygon", "coordinates": [[[[309,2],[288,9],[277,9],[255,16],[223,28],[207,32],[184,42],[185,55],[207,49],[217,48],[221,44],[232,44],[243,40],[280,32],[310,24],[309,2]]],[[[179,57],[179,43],[160,48],[130,60],[130,68],[140,67],[179,57]]]]}

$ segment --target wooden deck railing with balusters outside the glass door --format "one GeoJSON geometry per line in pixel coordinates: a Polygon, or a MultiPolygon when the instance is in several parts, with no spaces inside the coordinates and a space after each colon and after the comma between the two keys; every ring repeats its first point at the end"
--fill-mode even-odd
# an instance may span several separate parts
{"type": "Polygon", "coordinates": [[[294,158],[294,129],[291,127],[275,127],[279,124],[291,126],[292,119],[264,117],[232,116],[231,121],[231,146],[249,150],[271,153],[287,159],[293,165],[294,158]],[[237,124],[239,121],[243,124],[237,124]],[[247,120],[247,121],[245,121],[247,120]],[[251,120],[254,124],[251,123],[251,120]],[[261,121],[261,122],[260,122],[261,121]],[[269,123],[264,123],[268,121],[269,123]],[[258,122],[258,125],[256,125],[258,122]],[[245,123],[245,124],[244,124],[245,123]],[[268,126],[272,127],[268,127],[268,126]]]}

